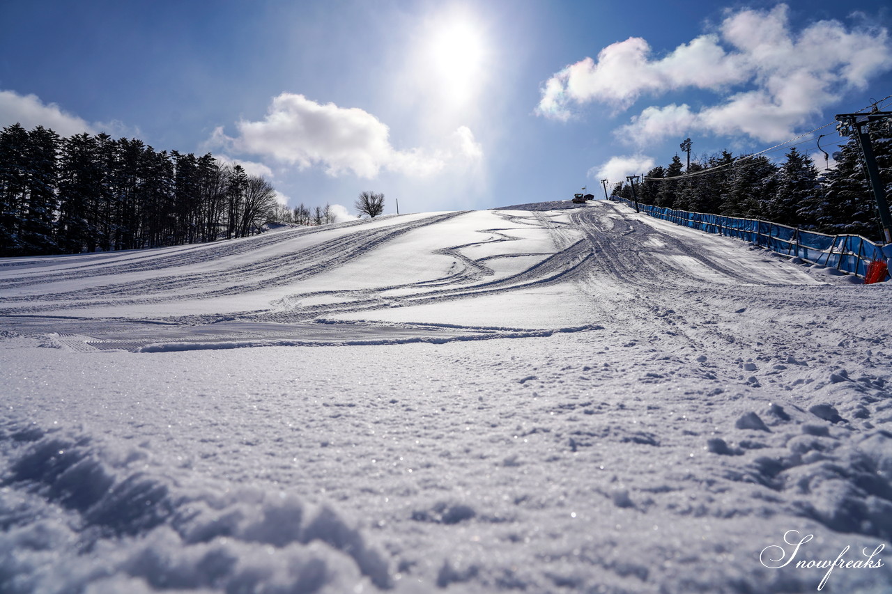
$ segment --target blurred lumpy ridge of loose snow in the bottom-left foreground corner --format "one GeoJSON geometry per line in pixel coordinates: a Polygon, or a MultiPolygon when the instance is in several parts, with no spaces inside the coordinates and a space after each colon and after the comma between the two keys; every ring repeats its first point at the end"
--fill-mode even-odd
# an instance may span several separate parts
{"type": "Polygon", "coordinates": [[[393,586],[357,528],[292,493],[184,483],[153,472],[145,450],[19,420],[0,424],[0,451],[0,591],[393,586]]]}

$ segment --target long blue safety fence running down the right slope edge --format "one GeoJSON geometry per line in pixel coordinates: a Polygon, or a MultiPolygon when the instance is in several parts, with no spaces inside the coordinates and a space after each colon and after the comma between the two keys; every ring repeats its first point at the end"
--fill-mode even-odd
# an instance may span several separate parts
{"type": "MultiPolygon", "coordinates": [[[[632,208],[635,206],[634,202],[621,196],[610,198],[615,202],[624,202],[632,208]]],[[[668,220],[676,225],[699,229],[706,233],[738,237],[791,258],[798,257],[862,278],[867,273],[871,261],[886,259],[880,246],[861,235],[825,235],[765,220],[673,210],[640,202],[638,208],[656,219],[668,220]]]]}

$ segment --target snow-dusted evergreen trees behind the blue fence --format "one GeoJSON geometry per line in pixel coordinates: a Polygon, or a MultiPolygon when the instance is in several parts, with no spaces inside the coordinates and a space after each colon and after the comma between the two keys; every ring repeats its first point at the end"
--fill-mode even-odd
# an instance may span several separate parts
{"type": "MultiPolygon", "coordinates": [[[[880,176],[890,194],[892,139],[871,136],[880,176]]],[[[795,146],[780,164],[764,155],[735,157],[723,151],[692,161],[684,174],[685,166],[676,154],[666,167],[650,169],[635,190],[639,202],[659,207],[763,219],[828,235],[880,240],[879,213],[861,148],[854,138],[839,148],[836,167],[822,171],[795,146]],[[697,175],[712,168],[721,169],[697,175]]],[[[628,184],[616,184],[613,192],[632,200],[628,184]]]]}

